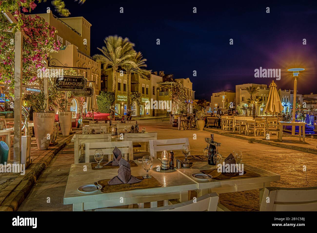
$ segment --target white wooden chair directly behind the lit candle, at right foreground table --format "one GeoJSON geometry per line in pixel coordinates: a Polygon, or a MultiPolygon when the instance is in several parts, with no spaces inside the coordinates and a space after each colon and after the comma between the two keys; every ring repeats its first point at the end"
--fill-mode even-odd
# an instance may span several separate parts
{"type": "MultiPolygon", "coordinates": [[[[183,145],[189,145],[188,138],[150,140],[150,154],[154,159],[157,158],[156,153],[164,150],[181,150],[183,145]]],[[[191,155],[191,154],[189,154],[191,155]]]]}

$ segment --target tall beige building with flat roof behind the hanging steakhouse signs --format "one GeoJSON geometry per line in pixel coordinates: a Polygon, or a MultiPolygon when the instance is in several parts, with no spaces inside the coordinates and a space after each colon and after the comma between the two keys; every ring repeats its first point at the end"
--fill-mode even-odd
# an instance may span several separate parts
{"type": "MultiPolygon", "coordinates": [[[[94,93],[99,95],[101,89],[101,64],[90,56],[90,28],[91,24],[84,17],[58,18],[52,12],[37,14],[45,19],[49,25],[56,28],[55,40],[62,45],[58,53],[50,54],[50,65],[65,67],[79,67],[76,69],[79,76],[84,76],[87,81],[94,82],[94,93]]],[[[31,15],[35,17],[36,15],[31,15]]],[[[55,67],[50,67],[55,68],[55,67]]],[[[89,82],[87,82],[89,85],[89,82]]],[[[69,110],[73,115],[78,113],[78,98],[70,98],[69,110]]],[[[89,110],[88,110],[89,111],[89,110]]]]}

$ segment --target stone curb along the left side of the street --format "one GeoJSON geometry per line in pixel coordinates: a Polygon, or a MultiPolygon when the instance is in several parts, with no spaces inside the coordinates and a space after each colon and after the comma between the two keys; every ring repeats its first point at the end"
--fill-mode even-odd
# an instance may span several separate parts
{"type": "Polygon", "coordinates": [[[16,211],[18,209],[23,200],[28,196],[36,180],[42,174],[42,171],[55,155],[71,142],[72,137],[73,135],[69,135],[59,144],[55,145],[56,148],[48,151],[39,162],[35,163],[32,170],[10,192],[7,192],[6,196],[0,196],[0,211],[16,211]]]}

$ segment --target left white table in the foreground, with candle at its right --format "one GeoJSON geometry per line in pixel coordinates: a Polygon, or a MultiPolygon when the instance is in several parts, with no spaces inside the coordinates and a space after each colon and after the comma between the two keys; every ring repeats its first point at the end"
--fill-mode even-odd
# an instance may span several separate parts
{"type": "MultiPolygon", "coordinates": [[[[142,163],[135,162],[138,167],[131,167],[131,174],[133,176],[145,175],[146,171],[143,169],[142,163]]],[[[72,204],[73,211],[84,211],[145,202],[150,202],[151,207],[156,207],[156,201],[162,199],[162,196],[167,199],[174,199],[177,196],[180,202],[187,201],[188,191],[196,190],[197,183],[177,170],[157,171],[157,166],[160,165],[159,159],[153,159],[153,167],[149,171],[149,175],[157,179],[162,184],[161,187],[109,193],[101,191],[83,193],[79,192],[77,188],[85,184],[94,184],[101,179],[111,179],[118,174],[118,168],[92,170],[89,163],[72,164],[64,195],[64,205],[72,204]],[[87,171],[84,171],[86,166],[87,171]],[[167,195],[169,196],[167,197],[167,195]]]]}

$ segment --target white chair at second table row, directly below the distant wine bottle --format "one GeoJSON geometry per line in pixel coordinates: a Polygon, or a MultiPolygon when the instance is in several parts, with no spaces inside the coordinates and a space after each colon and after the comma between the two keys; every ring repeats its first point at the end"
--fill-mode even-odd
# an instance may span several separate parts
{"type": "Polygon", "coordinates": [[[141,143],[141,151],[134,151],[134,159],[142,158],[143,156],[150,155],[149,148],[146,148],[146,144],[149,146],[150,140],[157,140],[158,133],[127,133],[124,134],[124,141],[132,141],[134,143],[141,143]]]}

